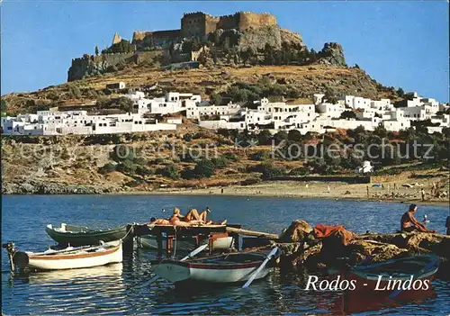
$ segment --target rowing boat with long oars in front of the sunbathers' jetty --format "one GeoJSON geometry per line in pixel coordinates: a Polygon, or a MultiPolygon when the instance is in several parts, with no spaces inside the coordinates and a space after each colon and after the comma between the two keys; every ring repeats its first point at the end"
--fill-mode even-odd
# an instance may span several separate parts
{"type": "MultiPolygon", "coordinates": [[[[189,261],[168,259],[154,268],[155,273],[173,284],[191,282],[229,284],[245,282],[265,261],[267,254],[261,252],[236,252],[189,261]]],[[[270,264],[264,266],[255,279],[266,277],[270,264]]]]}

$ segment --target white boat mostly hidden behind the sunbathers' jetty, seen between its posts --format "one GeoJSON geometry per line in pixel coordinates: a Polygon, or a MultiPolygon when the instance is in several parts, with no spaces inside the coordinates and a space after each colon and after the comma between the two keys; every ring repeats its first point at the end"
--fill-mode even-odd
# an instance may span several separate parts
{"type": "MultiPolygon", "coordinates": [[[[183,239],[176,239],[172,244],[173,248],[176,248],[177,251],[191,251],[198,246],[206,245],[209,243],[209,239],[203,238],[200,239],[199,245],[197,245],[197,240],[194,237],[184,237],[183,239]]],[[[140,236],[140,245],[142,248],[154,249],[157,250],[157,237],[151,235],[140,236]]],[[[166,248],[166,239],[163,239],[163,249],[166,248]]],[[[212,239],[212,248],[213,249],[229,249],[233,248],[234,240],[232,237],[218,237],[212,239]]]]}

